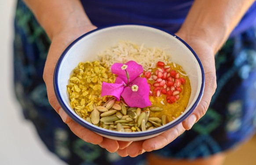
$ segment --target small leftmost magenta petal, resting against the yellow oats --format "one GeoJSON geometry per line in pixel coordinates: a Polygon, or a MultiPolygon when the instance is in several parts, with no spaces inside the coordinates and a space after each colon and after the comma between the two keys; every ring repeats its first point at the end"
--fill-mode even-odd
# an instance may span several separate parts
{"type": "Polygon", "coordinates": [[[106,96],[106,95],[115,96],[116,99],[119,101],[123,90],[124,90],[123,84],[116,84],[116,83],[112,84],[112,83],[102,82],[101,96],[106,96]]]}

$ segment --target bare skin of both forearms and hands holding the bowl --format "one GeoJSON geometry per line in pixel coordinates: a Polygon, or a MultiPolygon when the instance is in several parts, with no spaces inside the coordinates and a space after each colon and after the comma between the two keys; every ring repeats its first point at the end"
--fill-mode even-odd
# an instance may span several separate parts
{"type": "Polygon", "coordinates": [[[52,80],[59,56],[73,40],[96,28],[86,16],[80,1],[24,1],[51,39],[44,68],[44,81],[51,106],[59,113],[70,130],[84,141],[98,144],[106,148],[107,151],[117,152],[122,157],[128,155],[135,157],[146,151],[150,152],[165,147],[185,130],[190,130],[194,123],[205,115],[216,90],[214,55],[227,40],[254,0],[195,0],[185,22],[176,35],[187,42],[201,60],[205,70],[203,98],[194,112],[182,123],[157,137],[134,142],[111,140],[80,126],[67,116],[56,99],[52,80]]]}

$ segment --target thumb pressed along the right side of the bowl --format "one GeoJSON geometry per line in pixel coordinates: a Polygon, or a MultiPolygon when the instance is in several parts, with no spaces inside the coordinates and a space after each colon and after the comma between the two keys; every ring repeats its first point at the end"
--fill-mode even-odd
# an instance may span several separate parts
{"type": "Polygon", "coordinates": [[[194,112],[187,118],[185,119],[182,124],[183,127],[186,130],[190,130],[192,126],[199,120],[201,119],[202,116],[205,115],[211,99],[212,95],[214,94],[216,89],[216,78],[215,78],[215,73],[208,72],[205,74],[205,90],[203,97],[198,104],[197,108],[194,110],[194,112]]]}

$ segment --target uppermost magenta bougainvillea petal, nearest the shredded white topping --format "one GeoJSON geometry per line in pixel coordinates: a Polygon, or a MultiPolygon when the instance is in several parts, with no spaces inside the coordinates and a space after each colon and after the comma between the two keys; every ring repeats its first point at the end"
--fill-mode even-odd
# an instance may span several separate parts
{"type": "MultiPolygon", "coordinates": [[[[114,63],[111,67],[111,71],[113,74],[117,74],[125,83],[127,83],[127,77],[125,70],[122,70],[121,67],[123,63],[114,63]]],[[[136,77],[143,73],[143,67],[136,63],[135,61],[128,61],[125,63],[127,65],[127,71],[129,74],[129,82],[133,81],[136,77]]]]}

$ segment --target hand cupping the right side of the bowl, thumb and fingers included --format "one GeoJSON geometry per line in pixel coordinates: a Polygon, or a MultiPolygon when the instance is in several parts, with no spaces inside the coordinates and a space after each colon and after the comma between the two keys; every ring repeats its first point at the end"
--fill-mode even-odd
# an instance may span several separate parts
{"type": "Polygon", "coordinates": [[[214,60],[214,48],[208,45],[203,39],[198,37],[189,36],[187,37],[182,32],[177,33],[181,39],[185,40],[201,60],[205,71],[205,90],[201,102],[194,110],[194,112],[185,119],[182,123],[174,126],[170,130],[161,133],[156,137],[152,137],[147,140],[132,142],[128,147],[124,147],[117,150],[120,156],[131,156],[135,157],[143,152],[149,152],[153,150],[161,149],[167,144],[175,140],[185,130],[190,130],[191,127],[196,123],[208,109],[212,95],[216,90],[216,69],[214,60]]]}

